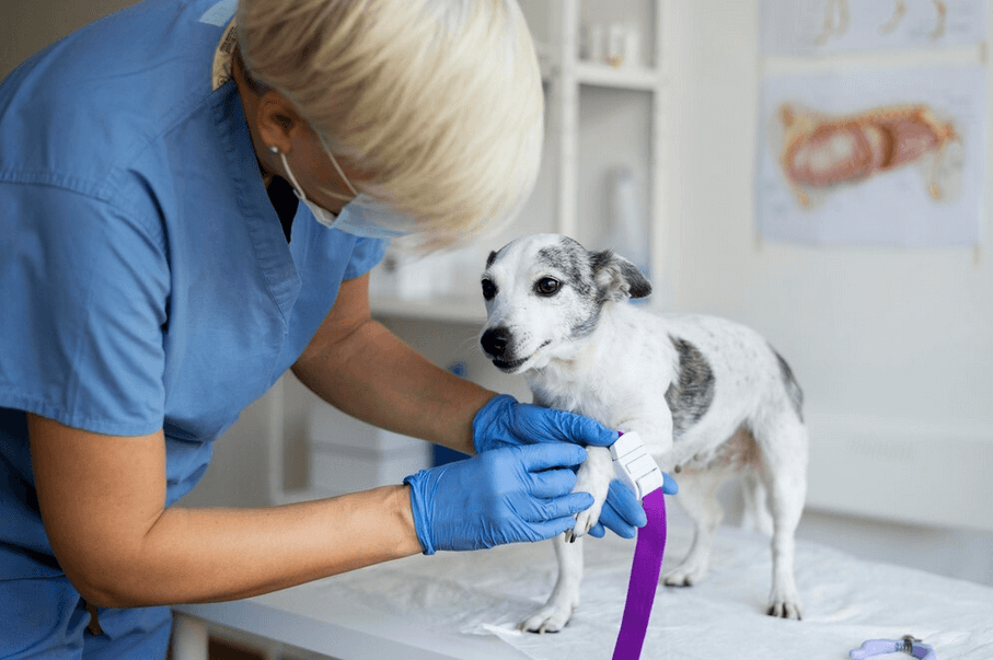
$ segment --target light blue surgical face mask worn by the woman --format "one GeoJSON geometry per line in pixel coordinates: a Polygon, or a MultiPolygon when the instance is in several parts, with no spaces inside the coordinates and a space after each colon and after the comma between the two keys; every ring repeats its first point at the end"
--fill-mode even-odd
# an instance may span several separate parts
{"type": "MultiPolygon", "coordinates": [[[[365,193],[356,192],[351,182],[349,182],[348,177],[345,176],[345,173],[342,172],[338,162],[330,152],[327,155],[331,158],[331,163],[337,171],[338,176],[342,177],[342,181],[345,182],[345,185],[348,186],[348,189],[351,190],[351,194],[354,195],[354,197],[347,198],[349,201],[337,216],[308,199],[307,195],[303,194],[303,188],[297,183],[292,170],[290,170],[290,165],[286,160],[286,154],[278,151],[275,147],[272,147],[270,149],[274,152],[278,152],[279,158],[282,159],[282,166],[290,177],[290,184],[293,186],[293,193],[297,195],[297,198],[307,205],[307,208],[310,209],[314,220],[324,227],[337,229],[355,236],[362,236],[366,239],[395,239],[413,233],[414,229],[411,220],[395,211],[384,208],[382,202],[376,201],[365,193]]],[[[340,195],[337,197],[346,199],[346,197],[340,195]]]]}

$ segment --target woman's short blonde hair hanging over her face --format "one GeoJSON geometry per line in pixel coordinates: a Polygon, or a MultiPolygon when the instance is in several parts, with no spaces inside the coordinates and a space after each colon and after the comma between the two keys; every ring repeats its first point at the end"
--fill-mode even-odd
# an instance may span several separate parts
{"type": "Polygon", "coordinates": [[[241,0],[241,55],[435,246],[511,220],[543,92],[517,0],[241,0]]]}

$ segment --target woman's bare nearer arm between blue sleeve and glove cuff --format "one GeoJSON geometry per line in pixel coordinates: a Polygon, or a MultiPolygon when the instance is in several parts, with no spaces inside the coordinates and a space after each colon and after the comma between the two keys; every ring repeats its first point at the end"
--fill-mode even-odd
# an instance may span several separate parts
{"type": "Polygon", "coordinates": [[[27,426],[45,531],[97,605],[229,600],[422,552],[406,486],[266,509],[165,508],[161,430],[101,436],[35,415],[27,426]]]}

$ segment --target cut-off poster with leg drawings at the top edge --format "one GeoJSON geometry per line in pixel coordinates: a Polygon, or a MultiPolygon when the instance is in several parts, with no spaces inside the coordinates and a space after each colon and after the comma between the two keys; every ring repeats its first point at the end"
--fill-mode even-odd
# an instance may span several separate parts
{"type": "Polygon", "coordinates": [[[772,56],[974,46],[986,0],[764,0],[762,51],[772,56]]]}

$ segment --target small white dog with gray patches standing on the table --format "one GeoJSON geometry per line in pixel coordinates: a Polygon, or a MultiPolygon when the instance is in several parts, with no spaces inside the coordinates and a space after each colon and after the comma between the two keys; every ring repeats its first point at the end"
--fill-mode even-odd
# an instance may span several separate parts
{"type": "MultiPolygon", "coordinates": [[[[749,521],[772,535],[767,612],[800,618],[794,535],[807,490],[807,429],[800,387],[769,343],[724,319],[660,316],[630,304],[651,292],[631,262],[558,234],[490,253],[482,281],[488,317],[481,344],[498,369],[524,374],[536,404],[636,431],[659,466],[676,473],[674,499],[695,530],[663,583],[689,587],[707,572],[723,516],[717,490],[739,475],[749,521]]],[[[557,632],[571,617],[582,579],[579,541],[599,519],[612,478],[609,450],[590,448],[576,490],[596,501],[554,541],[558,580],[521,628],[557,632]]]]}

